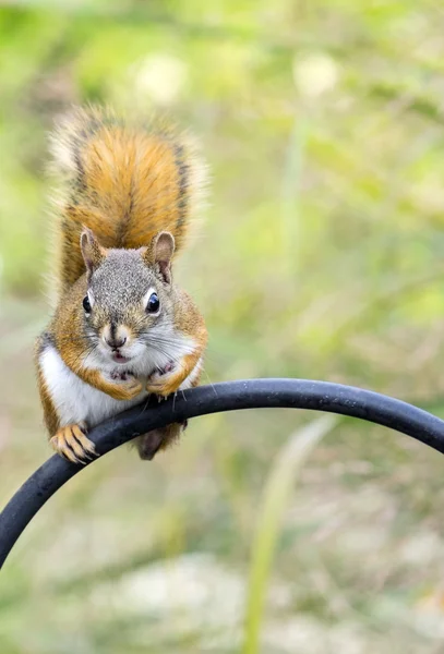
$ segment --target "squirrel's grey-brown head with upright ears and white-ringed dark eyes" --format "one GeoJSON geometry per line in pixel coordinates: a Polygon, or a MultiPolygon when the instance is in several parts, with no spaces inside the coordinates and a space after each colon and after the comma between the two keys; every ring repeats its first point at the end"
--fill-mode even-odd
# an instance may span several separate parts
{"type": "Polygon", "coordinates": [[[148,349],[165,360],[173,327],[173,237],[160,232],[146,247],[107,250],[84,229],[81,249],[87,277],[85,334],[95,354],[115,367],[134,363],[148,349]]]}

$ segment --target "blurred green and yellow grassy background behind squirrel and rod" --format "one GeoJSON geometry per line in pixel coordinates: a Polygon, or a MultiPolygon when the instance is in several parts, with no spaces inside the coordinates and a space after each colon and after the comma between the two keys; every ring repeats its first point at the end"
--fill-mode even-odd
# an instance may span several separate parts
{"type": "MultiPolygon", "coordinates": [[[[432,1],[1,2],[2,504],[49,456],[32,347],[46,134],[72,104],[202,142],[212,202],[177,278],[204,383],[320,378],[444,414],[443,33],[432,1]]],[[[407,437],[309,412],[202,417],[151,464],[120,448],[14,548],[1,654],[437,654],[443,479],[407,437]]]]}

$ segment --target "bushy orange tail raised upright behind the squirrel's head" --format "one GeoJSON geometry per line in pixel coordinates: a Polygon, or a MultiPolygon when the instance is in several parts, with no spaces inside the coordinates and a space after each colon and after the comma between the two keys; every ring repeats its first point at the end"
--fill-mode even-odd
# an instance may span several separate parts
{"type": "Polygon", "coordinates": [[[205,168],[189,137],[161,122],[142,125],[108,110],[76,109],[55,130],[51,150],[59,178],[59,293],[85,271],[83,226],[105,247],[141,247],[167,230],[180,250],[205,181],[205,168]]]}

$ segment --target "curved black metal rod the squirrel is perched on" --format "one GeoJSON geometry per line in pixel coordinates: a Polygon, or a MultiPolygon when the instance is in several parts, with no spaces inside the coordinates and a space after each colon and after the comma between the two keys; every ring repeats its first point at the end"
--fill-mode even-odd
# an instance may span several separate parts
{"type": "MultiPolygon", "coordinates": [[[[444,453],[444,421],[417,407],[352,386],[308,379],[249,379],[201,386],[175,399],[140,404],[93,429],[99,455],[171,422],[237,409],[287,408],[360,417],[412,436],[444,453]]],[[[83,470],[55,455],[15,493],[0,513],[0,568],[14,543],[44,504],[83,470]]]]}

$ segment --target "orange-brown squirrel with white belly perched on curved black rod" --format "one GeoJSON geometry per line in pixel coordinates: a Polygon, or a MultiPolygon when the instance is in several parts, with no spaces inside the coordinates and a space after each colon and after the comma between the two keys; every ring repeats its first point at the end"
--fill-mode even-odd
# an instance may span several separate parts
{"type": "MultiPolygon", "coordinates": [[[[59,121],[51,152],[57,306],[35,363],[49,443],[85,463],[97,456],[88,429],[149,393],[199,384],[207,331],[171,262],[205,175],[189,137],[97,107],[59,121]]],[[[140,457],[184,427],[136,437],[140,457]]]]}

